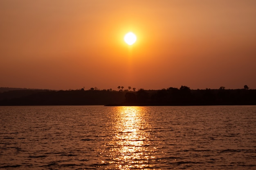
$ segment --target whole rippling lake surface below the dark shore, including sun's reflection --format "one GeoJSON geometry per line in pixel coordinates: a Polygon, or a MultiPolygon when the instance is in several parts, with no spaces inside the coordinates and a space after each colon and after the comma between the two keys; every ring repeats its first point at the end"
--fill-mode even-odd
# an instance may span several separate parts
{"type": "Polygon", "coordinates": [[[0,116],[0,169],[256,169],[256,106],[23,106],[0,116]]]}

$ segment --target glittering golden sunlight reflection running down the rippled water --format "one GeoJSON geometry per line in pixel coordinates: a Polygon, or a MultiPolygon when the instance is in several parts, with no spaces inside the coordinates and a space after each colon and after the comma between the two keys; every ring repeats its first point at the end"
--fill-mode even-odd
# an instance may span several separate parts
{"type": "Polygon", "coordinates": [[[113,135],[106,142],[103,153],[110,158],[108,169],[147,169],[157,160],[157,145],[151,134],[148,116],[144,107],[115,107],[110,129],[113,135]]]}

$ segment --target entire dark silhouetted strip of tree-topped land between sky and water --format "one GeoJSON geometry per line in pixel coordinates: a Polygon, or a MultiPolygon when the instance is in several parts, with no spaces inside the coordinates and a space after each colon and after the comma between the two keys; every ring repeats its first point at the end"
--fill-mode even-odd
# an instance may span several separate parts
{"type": "Polygon", "coordinates": [[[0,105],[256,105],[255,89],[161,90],[12,90],[0,93],[0,105]]]}

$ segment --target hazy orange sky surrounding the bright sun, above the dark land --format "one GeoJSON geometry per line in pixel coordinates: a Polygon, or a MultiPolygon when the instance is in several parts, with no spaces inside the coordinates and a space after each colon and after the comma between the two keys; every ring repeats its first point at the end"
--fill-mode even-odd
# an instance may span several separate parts
{"type": "Polygon", "coordinates": [[[0,1],[0,87],[256,89],[255,74],[256,0],[0,1]]]}

